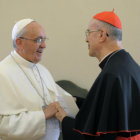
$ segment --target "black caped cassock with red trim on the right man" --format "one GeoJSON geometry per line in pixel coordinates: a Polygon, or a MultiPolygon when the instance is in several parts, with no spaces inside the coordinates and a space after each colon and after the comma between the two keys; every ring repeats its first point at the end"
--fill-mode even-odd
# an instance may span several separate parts
{"type": "Polygon", "coordinates": [[[140,133],[139,65],[122,49],[107,56],[100,67],[76,118],[62,121],[64,140],[115,140],[140,133]]]}

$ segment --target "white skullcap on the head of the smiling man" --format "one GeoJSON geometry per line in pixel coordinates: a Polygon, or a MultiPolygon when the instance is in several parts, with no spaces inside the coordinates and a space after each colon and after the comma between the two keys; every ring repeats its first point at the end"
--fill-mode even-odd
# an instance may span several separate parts
{"type": "Polygon", "coordinates": [[[13,27],[12,30],[12,39],[14,40],[15,37],[19,34],[19,32],[25,27],[27,26],[29,23],[33,22],[35,20],[33,19],[22,19],[20,21],[18,21],[15,26],[13,27]]]}

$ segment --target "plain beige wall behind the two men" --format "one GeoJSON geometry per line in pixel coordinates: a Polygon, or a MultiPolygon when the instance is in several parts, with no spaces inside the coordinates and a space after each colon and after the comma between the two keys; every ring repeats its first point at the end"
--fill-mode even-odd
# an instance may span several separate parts
{"type": "Polygon", "coordinates": [[[0,60],[12,50],[15,22],[33,18],[49,38],[42,63],[54,79],[89,89],[100,69],[88,56],[85,30],[95,13],[113,8],[123,24],[123,46],[140,64],[140,0],[0,0],[0,60]]]}

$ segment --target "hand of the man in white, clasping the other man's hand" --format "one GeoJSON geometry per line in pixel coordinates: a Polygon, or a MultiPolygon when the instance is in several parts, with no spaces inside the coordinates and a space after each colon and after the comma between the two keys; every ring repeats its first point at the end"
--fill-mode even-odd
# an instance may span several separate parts
{"type": "Polygon", "coordinates": [[[59,106],[58,102],[51,103],[44,109],[46,120],[55,116],[55,114],[57,113],[56,106],[59,106]]]}

